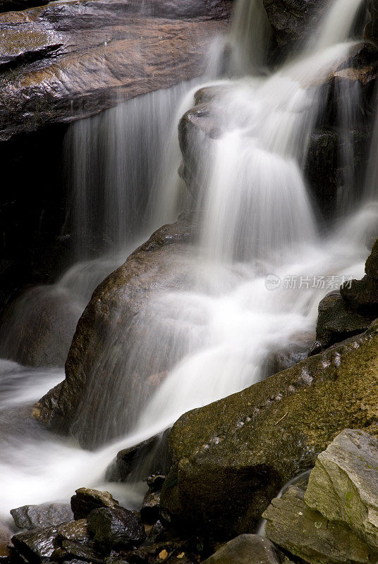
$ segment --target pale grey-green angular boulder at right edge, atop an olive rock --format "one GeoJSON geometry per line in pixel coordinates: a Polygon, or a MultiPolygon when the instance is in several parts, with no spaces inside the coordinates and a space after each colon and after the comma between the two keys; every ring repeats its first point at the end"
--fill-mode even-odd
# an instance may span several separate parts
{"type": "Polygon", "coordinates": [[[346,523],[378,551],[378,441],[343,430],[317,457],[305,502],[331,521],[346,523]]]}

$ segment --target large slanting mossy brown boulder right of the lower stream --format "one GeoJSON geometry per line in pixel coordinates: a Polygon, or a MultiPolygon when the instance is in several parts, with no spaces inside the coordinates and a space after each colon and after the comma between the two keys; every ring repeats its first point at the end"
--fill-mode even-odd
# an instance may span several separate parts
{"type": "Polygon", "coordinates": [[[346,427],[376,433],[378,324],[240,393],[183,415],[161,515],[176,527],[248,532],[288,479],[346,427]],[[230,504],[230,498],[233,503],[230,504]]]}

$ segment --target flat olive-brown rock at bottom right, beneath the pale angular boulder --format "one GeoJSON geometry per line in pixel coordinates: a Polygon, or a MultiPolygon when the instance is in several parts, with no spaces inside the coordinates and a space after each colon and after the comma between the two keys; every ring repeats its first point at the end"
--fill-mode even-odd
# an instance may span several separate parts
{"type": "Polygon", "coordinates": [[[343,523],[329,522],[307,507],[303,491],[290,486],[263,513],[265,534],[275,544],[311,564],[375,563],[372,551],[343,523]]]}

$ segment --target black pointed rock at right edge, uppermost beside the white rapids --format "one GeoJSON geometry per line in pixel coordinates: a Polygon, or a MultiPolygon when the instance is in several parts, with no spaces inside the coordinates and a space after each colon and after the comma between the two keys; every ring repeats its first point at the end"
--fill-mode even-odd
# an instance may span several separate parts
{"type": "Polygon", "coordinates": [[[362,280],[353,280],[340,288],[349,307],[364,315],[378,316],[378,239],[365,264],[362,280]]]}

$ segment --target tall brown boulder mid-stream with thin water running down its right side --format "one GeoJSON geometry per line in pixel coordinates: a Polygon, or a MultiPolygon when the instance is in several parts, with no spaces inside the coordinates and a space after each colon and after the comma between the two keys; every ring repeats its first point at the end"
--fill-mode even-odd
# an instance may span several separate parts
{"type": "MultiPolygon", "coordinates": [[[[148,309],[150,298],[164,290],[174,291],[190,284],[190,264],[185,264],[184,257],[194,233],[195,228],[185,221],[160,228],[99,285],[78,322],[66,362],[66,379],[35,405],[37,419],[51,427],[68,430],[80,418],[77,426],[80,432],[77,431],[76,436],[83,446],[92,448],[124,432],[127,424],[124,405],[128,405],[128,397],[133,397],[135,417],[139,415],[138,398],[140,401],[147,399],[164,378],[169,365],[158,364],[154,368],[154,355],[152,359],[148,356],[146,366],[140,368],[144,372],[135,374],[134,364],[128,364],[133,356],[130,353],[129,357],[126,350],[132,346],[133,338],[146,338],[150,346],[150,339],[152,342],[156,338],[159,328],[154,329],[152,323],[159,321],[159,312],[148,309]],[[107,360],[109,350],[115,362],[112,365],[107,360]],[[101,380],[104,386],[111,385],[114,389],[115,376],[112,379],[111,374],[125,373],[129,379],[121,383],[125,387],[119,391],[119,397],[113,395],[111,405],[115,427],[106,427],[104,422],[109,421],[106,393],[104,397],[91,396],[91,378],[96,379],[97,385],[101,380]],[[98,417],[98,424],[94,417],[98,417]]],[[[156,346],[158,355],[159,341],[156,346]]],[[[167,364],[174,361],[176,357],[174,360],[169,355],[164,358],[167,364]]],[[[126,415],[128,422],[132,422],[132,415],[126,415]]],[[[71,429],[74,432],[75,427],[71,429]]]]}

